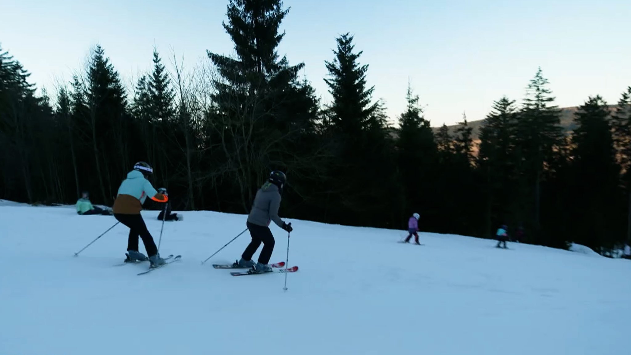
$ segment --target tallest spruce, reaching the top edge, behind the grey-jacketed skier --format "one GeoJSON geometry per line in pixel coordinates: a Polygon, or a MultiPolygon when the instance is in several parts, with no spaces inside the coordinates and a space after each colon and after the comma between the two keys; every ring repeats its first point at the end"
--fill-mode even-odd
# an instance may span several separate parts
{"type": "Polygon", "coordinates": [[[270,169],[289,172],[304,163],[303,156],[292,154],[304,138],[294,133],[316,118],[312,90],[298,81],[304,63],[290,66],[277,52],[289,11],[282,5],[280,0],[230,0],[223,27],[236,57],[206,51],[218,73],[209,115],[225,154],[218,170],[232,176],[244,211],[270,169]]]}

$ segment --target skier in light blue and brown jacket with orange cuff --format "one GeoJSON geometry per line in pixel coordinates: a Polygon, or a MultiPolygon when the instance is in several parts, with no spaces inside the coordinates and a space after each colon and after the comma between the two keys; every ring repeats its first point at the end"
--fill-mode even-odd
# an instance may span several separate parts
{"type": "Polygon", "coordinates": [[[127,173],[127,178],[121,183],[114,201],[114,218],[129,227],[129,239],[127,240],[127,255],[131,260],[147,260],[153,266],[165,264],[158,254],[158,248],[153,242],[153,237],[144,224],[140,211],[146,198],[156,202],[167,202],[168,197],[160,194],[147,180],[153,173],[151,166],[144,161],[134,165],[134,170],[127,173]],[[138,252],[138,236],[143,239],[144,249],[149,258],[138,252]]]}

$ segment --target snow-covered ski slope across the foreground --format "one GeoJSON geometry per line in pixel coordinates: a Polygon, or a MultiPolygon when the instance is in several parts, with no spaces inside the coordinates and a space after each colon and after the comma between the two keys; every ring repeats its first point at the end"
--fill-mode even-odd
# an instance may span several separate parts
{"type": "MultiPolygon", "coordinates": [[[[156,244],[162,222],[143,211],[156,244]]],[[[0,204],[0,354],[623,354],[631,262],[599,255],[403,230],[292,222],[298,272],[233,277],[245,216],[184,212],[164,225],[143,276],[122,265],[127,228],[73,206],[0,204]]],[[[406,216],[402,217],[405,223],[406,216]]],[[[420,221],[423,228],[423,220],[420,221]]],[[[287,234],[271,226],[271,262],[287,234]]],[[[141,245],[141,252],[144,247],[141,245]]],[[[259,251],[255,254],[255,259],[259,251]]]]}

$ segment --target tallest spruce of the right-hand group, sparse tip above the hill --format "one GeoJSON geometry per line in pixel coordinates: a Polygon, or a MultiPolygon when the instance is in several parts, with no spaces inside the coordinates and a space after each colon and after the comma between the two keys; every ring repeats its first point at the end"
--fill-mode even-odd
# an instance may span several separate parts
{"type": "Polygon", "coordinates": [[[519,150],[524,161],[521,166],[526,177],[524,205],[533,206],[534,230],[541,228],[541,181],[545,179],[545,165],[553,158],[555,148],[562,139],[560,109],[554,105],[548,79],[543,77],[541,67],[531,79],[519,120],[519,150]]]}

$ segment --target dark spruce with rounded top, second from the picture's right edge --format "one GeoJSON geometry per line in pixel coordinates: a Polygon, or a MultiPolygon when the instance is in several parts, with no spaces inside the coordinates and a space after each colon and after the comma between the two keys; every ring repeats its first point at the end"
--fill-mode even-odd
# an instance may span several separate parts
{"type": "MultiPolygon", "coordinates": [[[[601,250],[613,248],[616,237],[618,174],[610,112],[601,96],[590,96],[575,113],[572,134],[577,243],[601,250]]],[[[620,223],[618,223],[620,225],[620,223]]]]}

